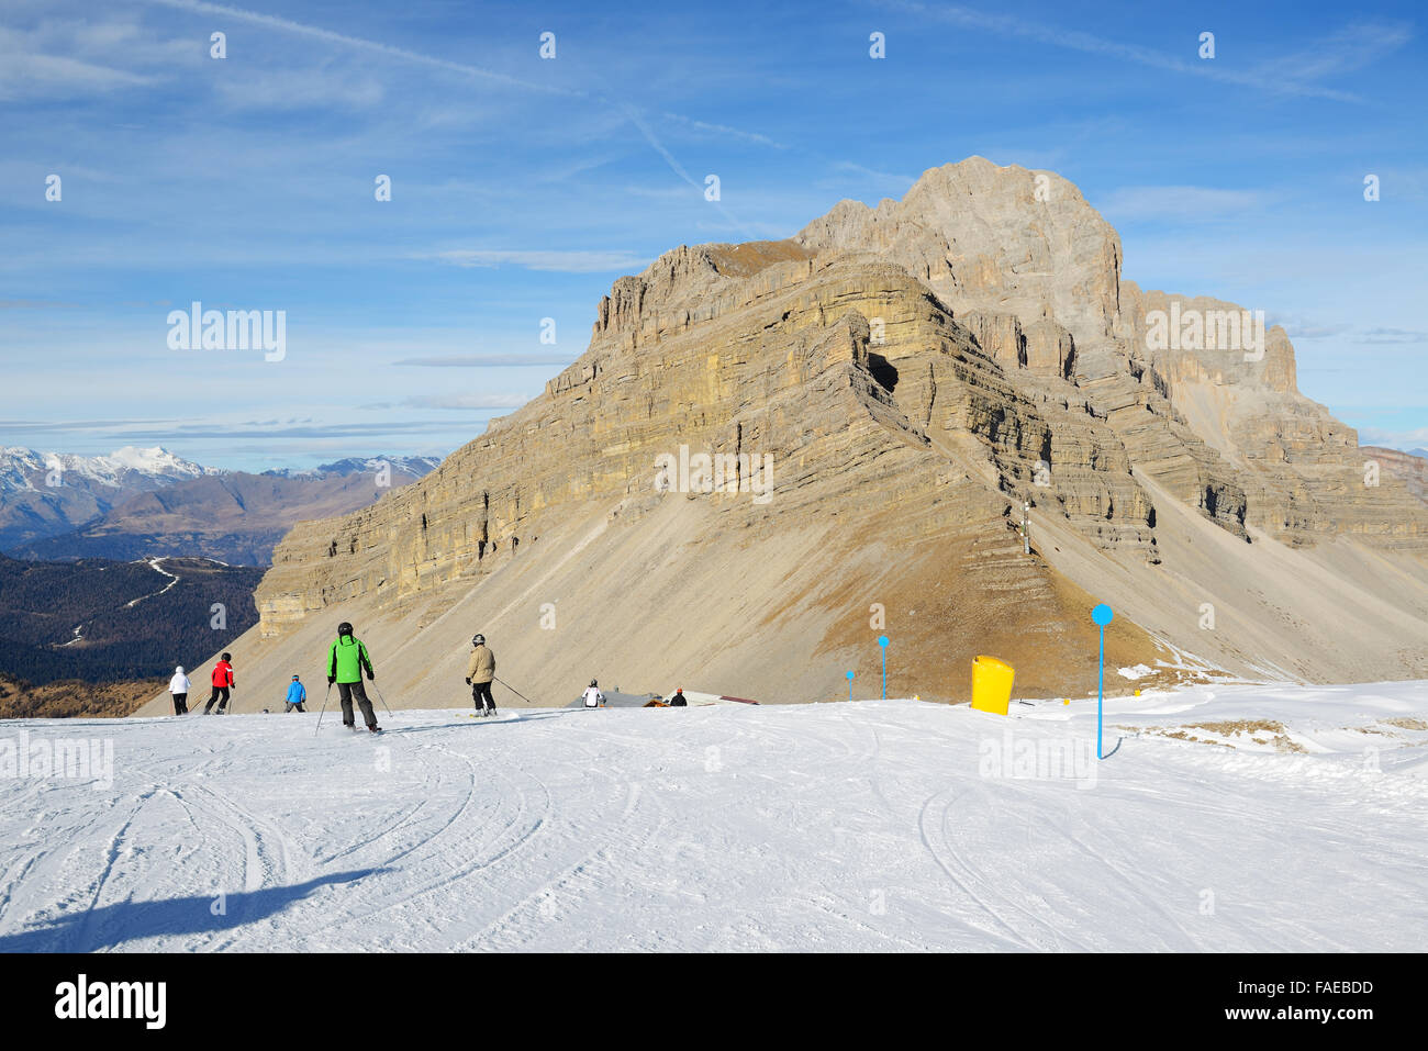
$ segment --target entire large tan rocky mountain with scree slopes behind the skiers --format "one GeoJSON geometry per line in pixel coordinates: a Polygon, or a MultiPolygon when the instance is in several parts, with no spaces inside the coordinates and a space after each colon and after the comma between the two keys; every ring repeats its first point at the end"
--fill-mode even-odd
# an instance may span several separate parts
{"type": "Polygon", "coordinates": [[[1422,677],[1428,508],[1365,486],[1261,318],[1122,280],[1071,183],[975,157],[678,247],[544,394],[294,527],[234,645],[287,670],[351,620],[393,705],[463,703],[474,631],[551,704],[591,675],[877,695],[878,635],[894,695],[965,697],[978,653],[1067,695],[1107,601],[1108,660],[1160,680],[1422,677]]]}

